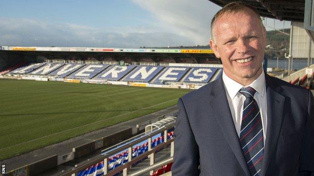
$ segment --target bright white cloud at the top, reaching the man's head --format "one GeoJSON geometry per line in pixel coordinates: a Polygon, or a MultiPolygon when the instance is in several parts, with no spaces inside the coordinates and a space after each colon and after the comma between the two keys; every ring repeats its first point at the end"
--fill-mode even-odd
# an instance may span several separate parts
{"type": "Polygon", "coordinates": [[[163,31],[185,36],[194,45],[208,45],[210,22],[219,6],[208,0],[133,0],[142,9],[149,11],[163,31]]]}

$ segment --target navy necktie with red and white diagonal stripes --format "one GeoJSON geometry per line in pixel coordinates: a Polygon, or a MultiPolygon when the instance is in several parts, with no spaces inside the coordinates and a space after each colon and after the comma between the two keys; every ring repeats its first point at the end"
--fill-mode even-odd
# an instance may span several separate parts
{"type": "Polygon", "coordinates": [[[251,175],[257,176],[261,172],[264,155],[262,118],[254,99],[256,90],[244,87],[239,92],[246,97],[243,104],[240,143],[251,175]]]}

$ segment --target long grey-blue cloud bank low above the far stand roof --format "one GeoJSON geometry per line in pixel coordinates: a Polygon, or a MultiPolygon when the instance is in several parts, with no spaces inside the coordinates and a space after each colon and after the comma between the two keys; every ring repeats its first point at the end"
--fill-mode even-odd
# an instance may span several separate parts
{"type": "Polygon", "coordinates": [[[32,19],[0,18],[0,45],[76,47],[165,47],[189,44],[178,34],[152,27],[94,28],[70,23],[49,23],[32,19]]]}

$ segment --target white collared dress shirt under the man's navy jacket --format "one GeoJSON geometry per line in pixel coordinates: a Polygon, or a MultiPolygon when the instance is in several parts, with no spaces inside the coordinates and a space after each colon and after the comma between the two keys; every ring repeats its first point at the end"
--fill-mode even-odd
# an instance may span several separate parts
{"type": "MultiPolygon", "coordinates": [[[[246,98],[244,95],[242,95],[239,92],[239,90],[243,87],[248,87],[248,86],[243,86],[242,84],[232,80],[224,72],[222,73],[222,80],[224,83],[234,126],[236,126],[238,136],[240,136],[241,123],[242,123],[242,109],[243,109],[244,100],[246,98]]],[[[253,87],[256,90],[256,93],[254,94],[254,99],[257,102],[259,109],[261,111],[263,133],[264,133],[263,134],[264,146],[265,146],[266,131],[267,131],[267,94],[266,94],[266,82],[265,82],[264,71],[249,86],[253,87]]]]}

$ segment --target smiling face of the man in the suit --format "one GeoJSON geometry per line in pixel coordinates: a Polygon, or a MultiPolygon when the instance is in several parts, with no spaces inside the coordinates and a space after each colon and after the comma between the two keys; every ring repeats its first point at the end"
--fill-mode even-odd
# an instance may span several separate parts
{"type": "Polygon", "coordinates": [[[210,47],[221,59],[224,73],[242,85],[262,73],[266,31],[252,10],[222,14],[213,26],[210,47]]]}

